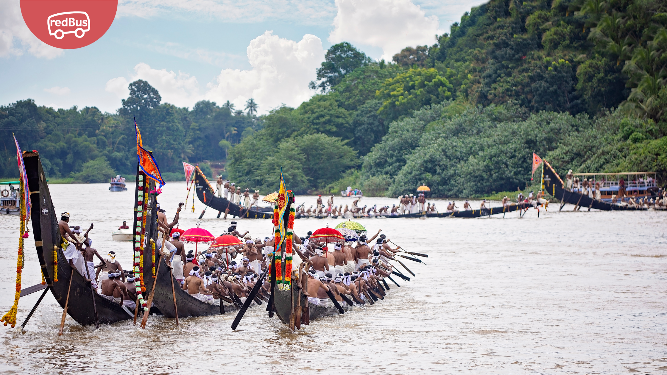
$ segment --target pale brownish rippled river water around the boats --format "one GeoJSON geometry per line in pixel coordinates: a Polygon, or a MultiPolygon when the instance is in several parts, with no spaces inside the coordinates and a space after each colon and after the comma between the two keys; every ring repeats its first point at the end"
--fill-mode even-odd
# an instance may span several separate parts
{"type": "MultiPolygon", "coordinates": [[[[95,223],[90,237],[101,254],[114,250],[131,268],[131,243],[114,242],[123,220],[131,225],[133,193],[107,184],[51,185],[57,213],[71,224],[95,223]]],[[[159,202],[173,218],[185,183],[168,183],[159,202]]],[[[306,207],[316,197],[297,197],[306,207]]],[[[373,204],[390,198],[363,198],[373,204]]],[[[351,204],[336,198],[336,204],[351,204]]],[[[438,208],[446,207],[438,201],[438,208]]],[[[473,202],[478,207],[478,202],[473,202]]],[[[216,236],[231,220],[207,211],[181,214],[181,229],[201,223],[216,236]]],[[[462,202],[458,202],[462,206],[462,202]]],[[[497,205],[493,205],[497,206],[497,205]]],[[[655,374],[667,370],[666,212],[558,212],[529,210],[506,218],[362,219],[396,244],[427,253],[426,264],[403,260],[417,276],[390,284],[388,298],[343,316],[314,320],[291,333],[263,306],[251,308],[232,331],[235,314],[149,318],[81,327],[69,316],[58,336],[62,309],[51,294],[23,334],[19,326],[40,293],[21,298],[17,328],[0,326],[0,371],[5,373],[191,374],[371,373],[414,374],[655,374]]],[[[239,231],[267,236],[269,220],[237,220],[239,231]]],[[[303,236],[342,220],[295,222],[303,236]]],[[[18,246],[16,216],[0,216],[0,314],[10,308],[18,246]]],[[[186,245],[188,249],[193,246],[186,245]]],[[[26,241],[23,288],[40,282],[32,237],[26,241]]],[[[398,265],[397,265],[398,266],[398,265]]],[[[400,268],[400,266],[398,266],[400,268]]],[[[406,273],[406,271],[403,271],[406,273]]]]}

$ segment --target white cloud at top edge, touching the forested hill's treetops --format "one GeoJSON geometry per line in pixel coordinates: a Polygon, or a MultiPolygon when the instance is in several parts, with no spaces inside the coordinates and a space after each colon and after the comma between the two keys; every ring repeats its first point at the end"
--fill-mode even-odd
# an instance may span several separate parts
{"type": "Polygon", "coordinates": [[[380,47],[385,60],[409,45],[431,45],[443,33],[438,17],[427,17],[410,0],[336,0],[336,6],[328,40],[380,47]]]}

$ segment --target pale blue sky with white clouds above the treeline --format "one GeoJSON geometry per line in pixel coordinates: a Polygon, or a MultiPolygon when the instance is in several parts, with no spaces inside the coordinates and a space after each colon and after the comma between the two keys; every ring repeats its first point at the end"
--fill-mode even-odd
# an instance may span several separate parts
{"type": "Polygon", "coordinates": [[[229,100],[259,113],[297,107],[331,45],[348,41],[390,61],[484,0],[119,0],[113,24],[79,49],[56,49],[29,31],[19,0],[0,7],[0,105],[35,99],[54,108],[115,113],[127,85],[145,79],[162,102],[191,108],[229,100]]]}

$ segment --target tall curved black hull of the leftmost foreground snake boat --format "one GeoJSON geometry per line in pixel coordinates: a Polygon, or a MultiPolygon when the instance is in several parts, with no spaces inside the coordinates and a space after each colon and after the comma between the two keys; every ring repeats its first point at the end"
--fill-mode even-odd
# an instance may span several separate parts
{"type": "Polygon", "coordinates": [[[93,298],[95,298],[97,306],[99,323],[112,324],[132,318],[133,316],[123,310],[119,304],[115,304],[97,293],[93,294],[90,282],[87,282],[79,272],[71,272],[72,268],[60,248],[59,216],[57,216],[51,201],[49,186],[46,182],[39,154],[35,152],[24,153],[23,160],[25,161],[28,186],[31,192],[30,199],[33,203],[31,214],[33,230],[31,236],[35,240],[37,258],[39,258],[44,278],[55,300],[58,301],[60,306],[65,307],[70,275],[72,275],[67,314],[77,323],[83,326],[95,324],[93,298]],[[53,268],[54,247],[57,248],[57,282],[53,282],[55,276],[53,268]],[[94,297],[91,297],[91,295],[94,297]]]}

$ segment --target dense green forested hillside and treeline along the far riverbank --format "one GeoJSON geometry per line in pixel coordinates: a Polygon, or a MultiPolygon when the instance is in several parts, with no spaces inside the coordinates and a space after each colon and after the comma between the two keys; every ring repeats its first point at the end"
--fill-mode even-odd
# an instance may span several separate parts
{"type": "Polygon", "coordinates": [[[177,108],[137,81],[113,115],[19,101],[0,108],[0,131],[9,155],[8,129],[30,129],[17,136],[43,149],[53,175],[81,175],[88,160],[127,173],[137,115],[163,169],[226,157],[229,178],[262,192],[283,167],[299,194],[353,185],[396,196],[426,183],[435,196],[479,196],[524,186],[533,151],[562,173],[654,170],[664,181],[666,25],[664,1],[492,0],[393,61],[333,45],[317,95],[296,108],[177,108]]]}

